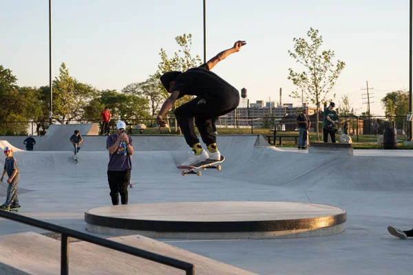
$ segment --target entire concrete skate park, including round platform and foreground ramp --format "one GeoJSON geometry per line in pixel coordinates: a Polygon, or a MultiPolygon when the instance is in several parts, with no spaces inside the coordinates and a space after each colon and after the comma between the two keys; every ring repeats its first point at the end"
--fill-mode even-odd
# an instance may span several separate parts
{"type": "MultiPolygon", "coordinates": [[[[386,228],[413,226],[413,151],[330,155],[219,135],[222,170],[182,177],[184,137],[134,135],[129,204],[111,206],[106,137],[96,133],[91,124],[53,125],[32,152],[25,137],[0,138],[19,161],[18,214],[175,256],[195,274],[411,272],[410,240],[386,228]],[[74,129],[84,138],[78,164],[74,129]]],[[[21,248],[0,254],[1,274],[59,273],[60,242],[45,230],[1,219],[0,232],[1,251],[21,248]]],[[[69,261],[72,274],[184,274],[84,242],[70,244],[69,261]]]]}

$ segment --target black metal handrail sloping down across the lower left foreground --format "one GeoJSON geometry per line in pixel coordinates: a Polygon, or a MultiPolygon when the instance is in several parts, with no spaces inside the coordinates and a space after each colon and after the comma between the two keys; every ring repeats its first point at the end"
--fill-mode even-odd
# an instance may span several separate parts
{"type": "Polygon", "coordinates": [[[61,234],[61,274],[69,274],[69,237],[76,238],[82,241],[87,241],[89,243],[94,243],[95,245],[100,245],[105,248],[110,248],[134,256],[138,256],[149,261],[154,261],[156,263],[162,263],[164,265],[169,265],[170,267],[178,268],[179,270],[184,270],[187,275],[195,274],[195,267],[192,263],[187,263],[180,261],[178,259],[173,259],[167,256],[162,256],[153,252],[146,250],[141,250],[139,248],[134,248],[130,245],[125,245],[123,243],[117,243],[116,241],[110,241],[107,239],[100,238],[98,236],[93,236],[91,234],[86,234],[70,228],[64,228],[60,225],[55,225],[53,223],[47,223],[45,221],[40,221],[38,219],[32,219],[30,217],[25,217],[20,214],[10,213],[8,211],[0,210],[0,217],[5,219],[10,219],[12,221],[18,221],[19,223],[25,223],[27,225],[32,225],[36,228],[41,228],[44,230],[50,230],[52,232],[61,234]]]}

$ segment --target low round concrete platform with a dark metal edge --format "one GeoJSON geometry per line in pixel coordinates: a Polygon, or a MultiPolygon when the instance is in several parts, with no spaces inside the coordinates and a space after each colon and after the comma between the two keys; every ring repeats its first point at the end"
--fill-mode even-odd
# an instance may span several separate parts
{"type": "Polygon", "coordinates": [[[86,230],[169,239],[285,239],[344,231],[346,211],[284,201],[203,201],[103,206],[85,212],[86,230]]]}

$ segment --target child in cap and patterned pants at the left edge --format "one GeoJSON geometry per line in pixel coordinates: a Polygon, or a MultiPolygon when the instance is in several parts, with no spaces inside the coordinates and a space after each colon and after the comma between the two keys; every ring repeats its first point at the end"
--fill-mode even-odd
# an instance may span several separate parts
{"type": "Polygon", "coordinates": [[[1,175],[0,181],[3,182],[4,175],[8,175],[8,188],[6,202],[0,206],[3,210],[10,210],[12,208],[19,208],[19,198],[17,197],[17,186],[19,185],[19,163],[17,159],[13,157],[13,150],[10,147],[4,147],[4,154],[6,160],[4,161],[3,175],[1,175]]]}

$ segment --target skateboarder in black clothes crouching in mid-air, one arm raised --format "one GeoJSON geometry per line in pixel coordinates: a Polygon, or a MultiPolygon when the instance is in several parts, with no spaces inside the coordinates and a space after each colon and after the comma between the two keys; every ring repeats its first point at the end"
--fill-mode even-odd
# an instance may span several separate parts
{"type": "Polygon", "coordinates": [[[213,133],[211,119],[230,113],[238,107],[240,94],[233,86],[210,70],[229,54],[239,52],[245,41],[237,41],[228,50],[224,50],[200,67],[188,69],[186,72],[167,72],[160,77],[163,87],[171,94],[162,104],[156,122],[160,129],[167,125],[164,115],[173,107],[175,101],[184,95],[196,96],[175,110],[175,116],[187,144],[192,148],[189,159],[182,166],[191,166],[206,159],[220,159],[216,137],[213,133]],[[195,134],[193,118],[207,145],[205,151],[195,134]]]}

